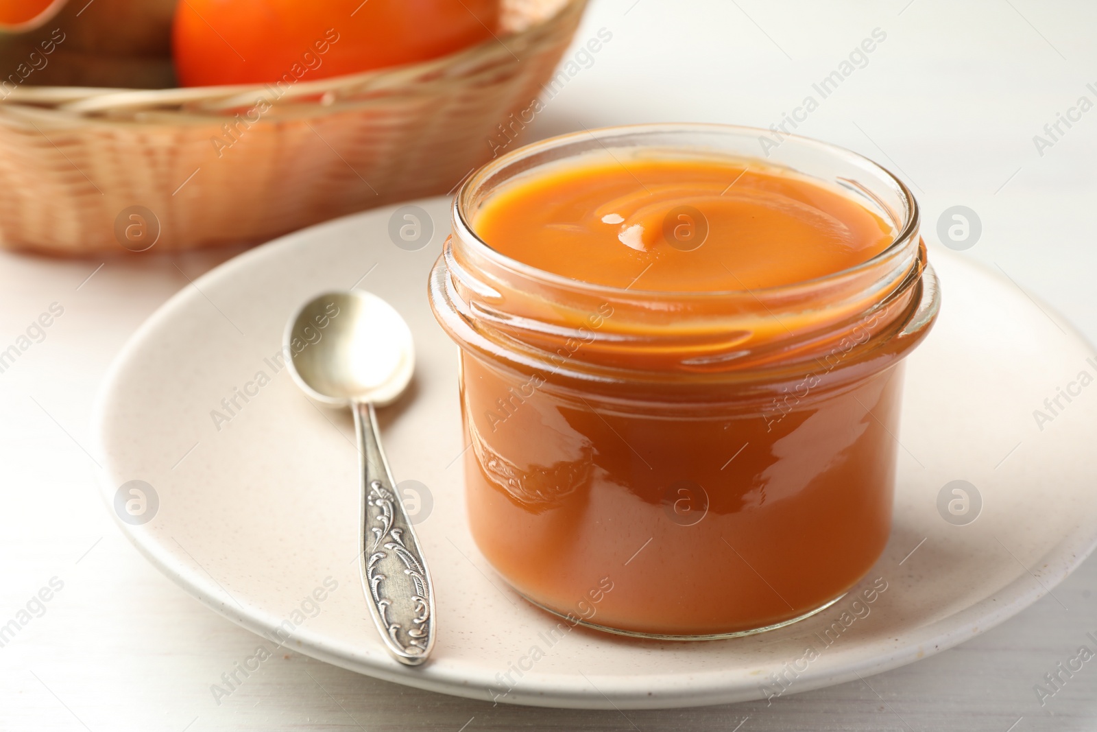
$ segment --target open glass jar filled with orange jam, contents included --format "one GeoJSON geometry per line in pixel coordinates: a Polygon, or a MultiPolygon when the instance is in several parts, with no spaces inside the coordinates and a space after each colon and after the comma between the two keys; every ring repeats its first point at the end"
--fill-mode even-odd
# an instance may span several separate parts
{"type": "Polygon", "coordinates": [[[430,295],[472,533],[568,623],[757,632],[886,544],[902,358],[938,303],[916,204],[818,143],[749,158],[742,129],[565,136],[457,194],[430,295]]]}

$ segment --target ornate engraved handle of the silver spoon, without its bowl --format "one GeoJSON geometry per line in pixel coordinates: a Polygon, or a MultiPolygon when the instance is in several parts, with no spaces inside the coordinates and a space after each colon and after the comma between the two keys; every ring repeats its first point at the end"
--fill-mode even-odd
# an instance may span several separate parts
{"type": "Polygon", "coordinates": [[[355,402],[353,409],[362,469],[362,588],[389,652],[417,666],[434,644],[430,573],[385,460],[373,405],[355,402]]]}

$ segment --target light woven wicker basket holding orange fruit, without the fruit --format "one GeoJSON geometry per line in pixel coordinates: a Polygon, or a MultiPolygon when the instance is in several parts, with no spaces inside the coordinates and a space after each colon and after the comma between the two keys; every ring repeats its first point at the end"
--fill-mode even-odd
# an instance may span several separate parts
{"type": "Polygon", "coordinates": [[[20,88],[0,102],[0,246],[79,256],[151,239],[157,250],[253,244],[446,193],[493,156],[498,125],[521,126],[510,115],[541,92],[585,2],[510,2],[499,41],[281,94],[20,88]],[[134,206],[154,221],[133,218],[148,229],[127,237],[134,206]]]}

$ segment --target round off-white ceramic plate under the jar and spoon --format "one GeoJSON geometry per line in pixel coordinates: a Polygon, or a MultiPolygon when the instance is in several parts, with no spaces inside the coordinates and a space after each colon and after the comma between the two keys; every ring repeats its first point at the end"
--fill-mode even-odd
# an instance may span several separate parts
{"type": "Polygon", "coordinates": [[[657,643],[576,629],[550,644],[557,619],[495,575],[466,527],[456,347],[434,323],[426,284],[449,202],[419,204],[433,236],[417,251],[393,244],[389,207],[284,237],[200,278],[139,329],[103,386],[102,491],[129,521],[118,525],[194,597],[263,634],[257,645],[273,651],[289,638],[363,674],[504,702],[709,705],[837,684],[955,645],[1051,592],[1093,549],[1097,385],[1076,381],[1097,376],[1097,361],[1016,285],[935,250],[943,305],[908,362],[895,525],[855,592],[874,581],[886,589],[858,613],[847,596],[749,638],[657,643]],[[432,503],[417,530],[438,640],[433,661],[417,668],[386,654],[362,596],[350,414],[314,406],[273,364],[297,305],[355,283],[392,303],[416,340],[412,386],[381,421],[397,480],[428,486],[423,511],[432,503]],[[1056,387],[1076,395],[1051,415],[1044,399],[1056,387]],[[245,391],[247,402],[235,396],[245,391]],[[1052,419],[1038,425],[1034,409],[1052,419]],[[958,480],[974,491],[968,515],[950,522],[938,498],[958,480]],[[144,506],[131,493],[144,484],[131,481],[151,486],[144,506]]]}

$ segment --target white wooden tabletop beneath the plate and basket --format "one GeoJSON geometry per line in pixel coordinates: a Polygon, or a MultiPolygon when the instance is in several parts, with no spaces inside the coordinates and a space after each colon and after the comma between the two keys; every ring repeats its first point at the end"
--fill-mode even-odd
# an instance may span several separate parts
{"type": "MultiPolygon", "coordinates": [[[[597,54],[573,52],[576,65],[565,67],[573,74],[545,103],[534,136],[654,121],[769,127],[795,113],[798,132],[904,176],[931,244],[941,212],[974,210],[982,236],[966,256],[1097,336],[1097,111],[1071,112],[1079,97],[1097,103],[1097,5],[595,0],[576,48],[603,27],[612,38],[597,54]],[[886,37],[822,98],[813,83],[840,71],[875,29],[886,37]],[[796,112],[810,94],[817,109],[796,112]],[[1052,138],[1044,124],[1068,112],[1076,121],[1060,123],[1052,138]],[[1038,149],[1034,135],[1051,144],[1038,149]]],[[[126,543],[100,502],[86,448],[93,395],[125,339],[189,286],[186,278],[231,254],[0,255],[0,350],[53,303],[64,308],[0,373],[0,627],[27,620],[0,647],[0,730],[1097,729],[1097,660],[1060,674],[1060,690],[1043,706],[1033,690],[1078,646],[1097,652],[1086,635],[1097,635],[1095,561],[1055,590],[1062,604],[1045,597],[935,657],[772,706],[491,707],[293,652],[218,706],[210,686],[253,652],[255,637],[184,595],[126,543]],[[34,599],[39,592],[49,599],[34,599]]]]}

